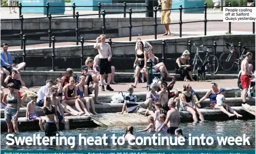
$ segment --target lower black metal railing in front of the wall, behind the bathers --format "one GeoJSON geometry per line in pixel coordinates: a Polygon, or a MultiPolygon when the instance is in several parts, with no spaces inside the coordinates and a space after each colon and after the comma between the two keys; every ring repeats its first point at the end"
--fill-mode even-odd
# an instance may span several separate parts
{"type": "MultiPolygon", "coordinates": [[[[30,57],[51,57],[52,58],[52,70],[55,71],[55,59],[56,57],[59,57],[59,58],[65,58],[65,57],[68,57],[68,58],[80,58],[80,66],[84,65],[84,58],[85,57],[88,57],[88,56],[84,56],[84,43],[85,42],[90,42],[90,43],[95,43],[95,41],[85,41],[83,37],[80,38],[80,45],[81,45],[81,54],[80,55],[76,55],[76,56],[62,56],[62,55],[55,55],[55,43],[56,42],[70,42],[69,40],[56,40],[55,36],[52,36],[51,39],[49,40],[45,40],[45,41],[49,41],[52,43],[52,54],[51,55],[39,55],[39,54],[26,54],[26,41],[27,40],[41,40],[41,39],[29,39],[29,38],[26,38],[26,35],[23,35],[22,38],[6,38],[6,39],[9,39],[9,40],[12,40],[12,39],[15,39],[15,40],[21,40],[23,42],[23,53],[22,53],[22,62],[26,62],[26,57],[27,56],[30,56],[30,57]]],[[[77,41],[71,41],[71,42],[77,42],[77,41]]],[[[112,44],[133,44],[135,45],[136,42],[113,42],[111,38],[108,39],[108,42],[107,42],[111,47],[112,47],[112,44]]],[[[152,45],[161,45],[162,46],[162,57],[159,58],[162,60],[162,62],[166,62],[166,60],[176,60],[176,58],[167,58],[165,56],[165,53],[166,53],[166,46],[167,45],[178,45],[178,46],[187,46],[187,49],[189,50],[190,53],[193,53],[191,47],[193,46],[193,42],[191,42],[190,40],[188,41],[187,44],[176,44],[176,43],[166,43],[165,40],[162,40],[162,43],[151,43],[152,45]]],[[[197,44],[196,44],[197,45],[197,44]]],[[[202,45],[202,44],[200,44],[202,45]]],[[[213,46],[213,54],[216,55],[217,51],[216,51],[216,48],[218,46],[226,46],[225,45],[217,45],[217,42],[214,41],[214,44],[204,44],[204,46],[213,46]]],[[[255,47],[255,46],[249,46],[249,45],[245,45],[246,47],[255,47]]],[[[242,53],[242,48],[243,48],[243,45],[242,45],[242,42],[239,42],[239,57],[240,57],[240,54],[242,53]]],[[[11,54],[12,56],[17,56],[17,60],[19,59],[19,56],[18,54],[11,54]]],[[[255,54],[254,54],[255,55],[255,54]]],[[[191,56],[191,54],[190,54],[191,56]]],[[[135,59],[135,57],[120,57],[120,56],[113,56],[112,57],[113,59],[135,59]]],[[[190,64],[192,64],[192,58],[189,57],[190,59],[190,64]]],[[[19,63],[17,61],[17,63],[19,63]]],[[[25,67],[23,68],[23,70],[25,70],[25,67]]]]}

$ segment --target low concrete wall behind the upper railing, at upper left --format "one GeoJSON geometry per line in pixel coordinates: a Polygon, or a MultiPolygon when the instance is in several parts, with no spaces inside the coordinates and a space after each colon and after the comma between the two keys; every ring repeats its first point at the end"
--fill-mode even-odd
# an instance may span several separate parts
{"type": "MultiPolygon", "coordinates": [[[[158,23],[160,23],[161,19],[157,18],[158,23]]],[[[127,14],[126,18],[107,18],[105,20],[106,28],[113,28],[106,30],[106,34],[108,37],[126,37],[129,36],[129,28],[115,28],[115,27],[123,27],[129,25],[129,14],[127,14]]],[[[133,17],[132,18],[132,26],[139,25],[153,25],[155,22],[154,17],[133,17]]],[[[102,28],[103,26],[103,18],[79,18],[79,29],[92,29],[92,28],[102,28]]],[[[33,32],[48,32],[49,21],[48,18],[43,19],[24,19],[23,21],[23,33],[33,33],[33,32]]],[[[59,30],[75,30],[76,28],[76,18],[52,18],[51,20],[51,28],[52,31],[59,30]]],[[[157,28],[157,33],[164,33],[164,26],[159,25],[157,28]]],[[[9,35],[9,34],[19,34],[20,33],[20,20],[8,20],[1,21],[1,35],[9,35]]],[[[80,31],[80,37],[83,37],[85,40],[96,39],[100,34],[102,34],[102,30],[89,30],[89,31],[80,31]]],[[[142,35],[150,35],[154,34],[154,26],[144,26],[144,27],[134,27],[132,28],[132,36],[137,36],[138,34],[142,35]]],[[[62,40],[76,40],[75,31],[73,32],[62,32],[62,33],[54,33],[52,34],[56,36],[58,39],[62,40]]],[[[18,37],[19,38],[19,35],[18,37]]],[[[27,38],[34,39],[48,39],[48,34],[44,35],[27,35],[27,38]]],[[[19,40],[2,40],[1,43],[8,42],[9,45],[19,45],[19,40]]],[[[28,40],[27,44],[37,44],[37,43],[45,43],[46,41],[34,41],[28,40]]]]}

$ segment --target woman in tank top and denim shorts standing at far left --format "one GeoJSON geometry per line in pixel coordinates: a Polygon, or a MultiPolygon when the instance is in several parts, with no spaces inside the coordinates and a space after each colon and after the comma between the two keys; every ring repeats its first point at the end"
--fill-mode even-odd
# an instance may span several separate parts
{"type": "Polygon", "coordinates": [[[15,133],[18,133],[18,113],[20,107],[20,98],[17,92],[15,92],[15,85],[13,83],[8,84],[9,91],[6,92],[2,98],[2,102],[7,104],[4,109],[4,119],[7,123],[8,133],[12,133],[11,122],[15,133]]]}

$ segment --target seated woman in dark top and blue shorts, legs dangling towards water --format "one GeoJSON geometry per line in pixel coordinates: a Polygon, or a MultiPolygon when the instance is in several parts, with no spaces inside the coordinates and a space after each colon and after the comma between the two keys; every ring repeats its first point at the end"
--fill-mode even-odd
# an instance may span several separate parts
{"type": "Polygon", "coordinates": [[[183,111],[187,111],[192,115],[194,123],[198,122],[197,114],[199,115],[201,121],[205,121],[201,110],[195,105],[195,100],[191,91],[191,85],[186,84],[184,87],[184,92],[181,94],[181,99],[185,104],[185,106],[183,107],[183,111]]]}

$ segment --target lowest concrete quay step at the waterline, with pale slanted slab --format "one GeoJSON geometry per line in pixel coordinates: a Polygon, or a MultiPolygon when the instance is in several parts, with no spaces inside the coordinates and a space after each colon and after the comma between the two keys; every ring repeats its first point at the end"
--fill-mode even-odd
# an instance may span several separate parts
{"type": "MultiPolygon", "coordinates": [[[[245,112],[242,107],[232,107],[237,113],[243,115],[240,119],[254,119],[252,116],[245,112]]],[[[221,110],[201,110],[205,120],[227,120],[227,119],[237,119],[236,116],[229,118],[221,110]]],[[[192,122],[192,115],[188,112],[180,111],[182,116],[181,122],[192,122]]],[[[45,117],[41,117],[45,120],[45,117]]],[[[146,125],[148,123],[147,117],[140,114],[100,114],[95,117],[107,126],[128,126],[128,125],[146,125]],[[112,117],[112,118],[111,118],[112,117]]],[[[84,128],[84,127],[97,127],[99,125],[95,124],[89,116],[67,116],[69,119],[70,129],[84,128]]],[[[96,122],[96,121],[95,121],[96,122]]],[[[1,132],[7,131],[7,125],[5,119],[0,119],[1,132]]],[[[38,121],[25,121],[25,118],[18,119],[18,129],[19,131],[35,131],[39,130],[38,121]]]]}

